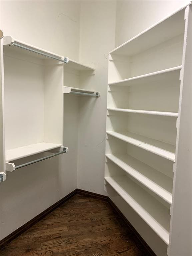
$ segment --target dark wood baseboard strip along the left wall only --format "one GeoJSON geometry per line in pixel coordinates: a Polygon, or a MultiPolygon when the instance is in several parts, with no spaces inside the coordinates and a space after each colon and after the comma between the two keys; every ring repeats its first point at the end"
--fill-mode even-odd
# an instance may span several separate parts
{"type": "Polygon", "coordinates": [[[69,200],[72,196],[74,196],[77,193],[77,189],[73,190],[71,193],[60,199],[55,204],[51,205],[49,208],[38,214],[36,217],[25,223],[23,226],[19,227],[15,231],[13,231],[10,235],[6,236],[0,241],[0,248],[4,247],[8,243],[10,243],[12,240],[14,240],[16,237],[21,235],[23,232],[25,232],[27,229],[32,227],[34,224],[36,224],[38,221],[40,221],[42,218],[44,218],[46,215],[48,215],[50,212],[54,211],[57,207],[62,205],[64,202],[69,200]]]}

